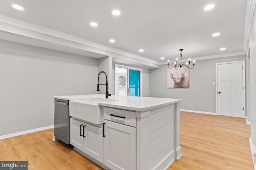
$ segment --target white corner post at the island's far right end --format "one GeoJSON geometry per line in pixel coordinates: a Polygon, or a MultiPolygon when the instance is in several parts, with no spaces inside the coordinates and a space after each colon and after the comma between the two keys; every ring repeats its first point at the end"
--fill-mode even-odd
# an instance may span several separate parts
{"type": "Polygon", "coordinates": [[[182,156],[180,147],[180,102],[175,104],[175,159],[179,160],[182,156]]]}

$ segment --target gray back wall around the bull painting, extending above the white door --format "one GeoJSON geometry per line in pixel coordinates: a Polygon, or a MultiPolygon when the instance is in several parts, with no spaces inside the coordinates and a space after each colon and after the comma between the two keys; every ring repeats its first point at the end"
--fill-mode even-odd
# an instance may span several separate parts
{"type": "Polygon", "coordinates": [[[181,109],[216,113],[215,64],[242,60],[245,55],[196,61],[189,70],[189,88],[167,88],[167,64],[150,69],[150,97],[180,98],[181,109]]]}

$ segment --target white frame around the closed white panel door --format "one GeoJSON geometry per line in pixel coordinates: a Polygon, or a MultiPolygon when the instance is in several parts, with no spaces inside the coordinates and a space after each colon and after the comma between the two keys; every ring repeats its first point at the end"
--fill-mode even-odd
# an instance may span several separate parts
{"type": "Polygon", "coordinates": [[[230,62],[224,62],[224,63],[216,63],[216,66],[215,66],[215,81],[216,81],[216,84],[215,84],[215,94],[216,94],[216,115],[218,115],[218,65],[220,64],[232,64],[232,63],[242,63],[243,65],[243,87],[244,87],[244,90],[243,90],[243,107],[244,107],[244,110],[243,110],[243,118],[245,118],[245,113],[246,113],[246,98],[245,98],[245,89],[246,89],[246,86],[245,86],[245,61],[230,61],[230,62]]]}

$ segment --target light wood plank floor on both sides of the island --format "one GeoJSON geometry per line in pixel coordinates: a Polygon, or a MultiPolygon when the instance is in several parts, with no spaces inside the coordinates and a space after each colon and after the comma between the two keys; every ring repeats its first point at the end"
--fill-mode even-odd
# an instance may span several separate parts
{"type": "MultiPolygon", "coordinates": [[[[0,140],[0,160],[28,160],[29,170],[101,170],[52,141],[53,129],[0,140]]],[[[182,157],[168,170],[253,170],[245,119],[181,112],[182,157]]]]}

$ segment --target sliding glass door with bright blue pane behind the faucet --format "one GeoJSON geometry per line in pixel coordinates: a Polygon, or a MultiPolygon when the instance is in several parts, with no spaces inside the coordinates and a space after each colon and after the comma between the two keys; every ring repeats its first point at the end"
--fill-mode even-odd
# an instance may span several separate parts
{"type": "Polygon", "coordinates": [[[141,72],[139,68],[115,66],[115,95],[141,96],[141,72]]]}

